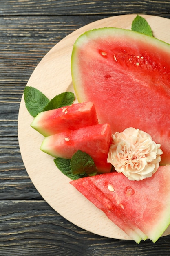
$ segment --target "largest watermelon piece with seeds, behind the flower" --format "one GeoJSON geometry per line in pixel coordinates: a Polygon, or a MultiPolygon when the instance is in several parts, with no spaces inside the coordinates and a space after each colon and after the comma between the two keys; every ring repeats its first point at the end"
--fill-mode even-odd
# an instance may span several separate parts
{"type": "Polygon", "coordinates": [[[78,101],[93,101],[112,133],[134,127],[161,144],[170,164],[170,45],[118,28],[85,32],[76,40],[71,73],[78,101]]]}

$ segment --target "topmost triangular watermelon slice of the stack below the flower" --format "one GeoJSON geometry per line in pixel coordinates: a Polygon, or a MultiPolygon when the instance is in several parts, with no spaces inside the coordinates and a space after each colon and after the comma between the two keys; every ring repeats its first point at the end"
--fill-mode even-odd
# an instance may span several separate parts
{"type": "MultiPolygon", "coordinates": [[[[140,181],[130,181],[117,172],[82,180],[85,179],[91,180],[103,192],[101,202],[107,198],[120,206],[124,216],[154,243],[170,224],[170,165],[159,167],[152,177],[140,181]]],[[[94,196],[97,198],[97,195],[94,196]]],[[[117,208],[115,215],[119,216],[117,208]]]]}

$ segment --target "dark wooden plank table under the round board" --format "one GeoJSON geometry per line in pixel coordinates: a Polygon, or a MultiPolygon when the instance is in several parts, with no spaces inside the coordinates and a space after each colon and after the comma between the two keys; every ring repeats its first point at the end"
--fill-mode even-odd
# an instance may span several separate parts
{"type": "Polygon", "coordinates": [[[170,1],[0,1],[0,256],[170,255],[170,236],[137,245],[65,220],[33,186],[18,145],[20,100],[42,57],[79,27],[132,13],[170,18],[170,1]]]}

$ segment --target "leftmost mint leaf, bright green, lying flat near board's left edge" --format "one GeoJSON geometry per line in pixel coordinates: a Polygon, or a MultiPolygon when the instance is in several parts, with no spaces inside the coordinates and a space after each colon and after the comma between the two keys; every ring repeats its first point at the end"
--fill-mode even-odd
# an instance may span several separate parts
{"type": "Polygon", "coordinates": [[[49,99],[42,92],[31,86],[26,86],[24,89],[24,101],[28,112],[33,117],[42,112],[49,103],[49,99]]]}

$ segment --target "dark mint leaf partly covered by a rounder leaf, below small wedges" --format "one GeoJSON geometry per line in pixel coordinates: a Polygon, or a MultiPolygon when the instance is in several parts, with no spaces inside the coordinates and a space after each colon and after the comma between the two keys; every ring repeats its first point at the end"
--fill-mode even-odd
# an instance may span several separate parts
{"type": "Polygon", "coordinates": [[[57,166],[57,168],[71,180],[77,180],[79,178],[83,178],[83,177],[87,176],[86,173],[84,175],[74,174],[71,171],[70,161],[71,161],[70,159],[64,159],[64,158],[60,158],[60,157],[54,159],[54,162],[55,162],[55,165],[57,166]]]}

